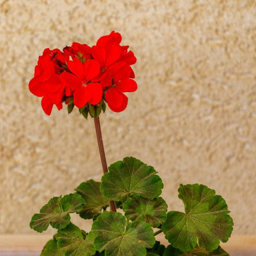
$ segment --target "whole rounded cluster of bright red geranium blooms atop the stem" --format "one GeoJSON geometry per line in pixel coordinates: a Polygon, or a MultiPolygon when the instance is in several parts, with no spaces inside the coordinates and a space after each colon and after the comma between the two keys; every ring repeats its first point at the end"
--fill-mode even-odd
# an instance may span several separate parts
{"type": "Polygon", "coordinates": [[[102,100],[111,110],[123,111],[128,101],[124,92],[137,90],[137,83],[130,66],[136,58],[129,46],[120,45],[121,40],[121,35],[112,31],[92,47],[73,43],[63,52],[45,49],[29,82],[30,92],[43,97],[44,112],[50,115],[53,105],[60,110],[63,102],[83,108],[102,100]]]}

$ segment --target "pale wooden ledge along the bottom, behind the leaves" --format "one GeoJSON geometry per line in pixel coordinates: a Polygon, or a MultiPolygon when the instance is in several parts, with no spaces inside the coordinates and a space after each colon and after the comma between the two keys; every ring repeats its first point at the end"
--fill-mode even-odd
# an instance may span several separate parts
{"type": "MultiPolygon", "coordinates": [[[[49,235],[0,235],[1,256],[39,256],[49,235]]],[[[163,234],[157,238],[166,244],[163,234]]],[[[230,256],[256,256],[256,236],[231,236],[229,241],[221,244],[230,256]]]]}

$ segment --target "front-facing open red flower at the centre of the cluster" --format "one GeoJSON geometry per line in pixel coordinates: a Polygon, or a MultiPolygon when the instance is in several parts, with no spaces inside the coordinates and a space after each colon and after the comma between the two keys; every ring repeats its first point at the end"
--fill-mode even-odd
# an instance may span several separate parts
{"type": "Polygon", "coordinates": [[[66,86],[66,94],[73,92],[75,106],[82,108],[87,102],[98,104],[102,98],[102,86],[90,81],[100,73],[99,62],[87,60],[82,63],[74,58],[74,61],[68,61],[68,68],[73,74],[63,72],[60,79],[66,86]]]}

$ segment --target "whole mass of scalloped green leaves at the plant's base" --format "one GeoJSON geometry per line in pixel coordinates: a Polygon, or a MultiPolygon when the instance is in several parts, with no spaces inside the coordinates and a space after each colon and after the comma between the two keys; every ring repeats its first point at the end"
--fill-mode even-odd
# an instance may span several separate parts
{"type": "Polygon", "coordinates": [[[233,229],[225,200],[204,185],[180,185],[185,212],[166,214],[162,188],[153,167],[126,157],[110,165],[102,182],[88,180],[75,194],[53,197],[30,222],[38,232],[49,225],[59,229],[41,256],[228,256],[219,246],[233,229]],[[125,216],[106,212],[109,199],[125,216]],[[93,219],[89,234],[70,223],[74,212],[93,219]],[[155,234],[153,228],[158,228],[155,234]],[[171,243],[167,248],[155,242],[162,231],[171,243]]]}

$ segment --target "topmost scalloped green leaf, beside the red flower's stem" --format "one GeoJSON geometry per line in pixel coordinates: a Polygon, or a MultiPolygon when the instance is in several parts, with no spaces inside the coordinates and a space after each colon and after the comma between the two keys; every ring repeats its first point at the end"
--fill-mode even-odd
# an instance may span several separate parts
{"type": "Polygon", "coordinates": [[[152,166],[134,157],[125,157],[109,166],[102,177],[100,190],[113,201],[126,201],[133,194],[154,199],[161,194],[163,182],[152,166]]]}

